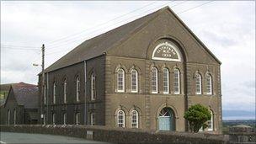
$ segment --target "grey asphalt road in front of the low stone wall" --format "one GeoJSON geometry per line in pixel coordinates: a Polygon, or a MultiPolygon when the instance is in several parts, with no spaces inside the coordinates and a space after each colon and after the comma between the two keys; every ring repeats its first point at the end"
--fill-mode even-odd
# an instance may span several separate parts
{"type": "Polygon", "coordinates": [[[0,143],[98,143],[107,144],[101,141],[88,141],[76,137],[68,136],[52,136],[42,134],[29,134],[29,133],[14,133],[14,132],[0,132],[0,143]]]}

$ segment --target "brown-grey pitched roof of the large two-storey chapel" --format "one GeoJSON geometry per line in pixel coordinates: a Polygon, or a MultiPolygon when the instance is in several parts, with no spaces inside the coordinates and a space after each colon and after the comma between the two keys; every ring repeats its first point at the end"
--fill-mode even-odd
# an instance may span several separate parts
{"type": "MultiPolygon", "coordinates": [[[[104,53],[107,53],[107,51],[113,48],[115,44],[131,36],[136,31],[136,29],[142,29],[152,19],[156,18],[160,13],[163,13],[166,10],[173,13],[169,7],[164,7],[154,13],[150,13],[144,17],[141,17],[140,19],[136,19],[128,24],[124,24],[102,35],[98,35],[92,39],[84,41],[81,45],[78,45],[72,51],[68,52],[67,55],[62,56],[61,59],[54,62],[50,67],[47,67],[45,72],[55,71],[56,69],[62,67],[67,67],[78,62],[86,61],[93,57],[104,55],[104,53]]],[[[179,19],[175,13],[173,13],[173,15],[179,19]]],[[[221,61],[219,61],[216,56],[214,56],[211,51],[207,49],[207,47],[199,40],[199,38],[195,36],[195,34],[193,34],[193,32],[182,22],[181,19],[179,19],[179,22],[183,24],[189,33],[191,33],[195,39],[198,40],[201,45],[203,45],[205,50],[208,51],[211,56],[213,56],[214,59],[221,64],[221,61]]]]}

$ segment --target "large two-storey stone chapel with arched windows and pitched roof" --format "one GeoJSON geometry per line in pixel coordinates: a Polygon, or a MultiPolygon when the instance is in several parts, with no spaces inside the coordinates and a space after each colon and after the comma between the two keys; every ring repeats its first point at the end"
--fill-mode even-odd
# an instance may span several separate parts
{"type": "Polygon", "coordinates": [[[212,114],[205,131],[220,133],[220,66],[184,22],[162,8],[84,41],[47,67],[40,120],[188,131],[184,111],[203,104],[212,114]]]}

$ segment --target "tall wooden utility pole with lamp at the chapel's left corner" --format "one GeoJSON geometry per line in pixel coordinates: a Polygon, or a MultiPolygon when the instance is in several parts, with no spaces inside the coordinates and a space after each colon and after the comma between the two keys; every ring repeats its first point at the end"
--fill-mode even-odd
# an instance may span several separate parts
{"type": "Polygon", "coordinates": [[[45,44],[42,45],[42,81],[41,81],[41,123],[44,124],[44,111],[43,111],[43,104],[45,104],[45,44]]]}

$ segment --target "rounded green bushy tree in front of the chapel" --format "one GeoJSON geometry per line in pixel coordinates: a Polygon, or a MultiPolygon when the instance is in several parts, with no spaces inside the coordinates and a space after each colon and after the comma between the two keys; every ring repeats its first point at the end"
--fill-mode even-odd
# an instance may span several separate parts
{"type": "Polygon", "coordinates": [[[189,121],[190,131],[198,132],[201,127],[207,127],[205,122],[211,120],[211,112],[205,106],[195,104],[185,112],[184,119],[189,121]]]}

